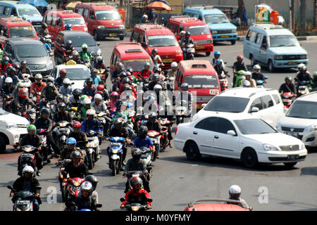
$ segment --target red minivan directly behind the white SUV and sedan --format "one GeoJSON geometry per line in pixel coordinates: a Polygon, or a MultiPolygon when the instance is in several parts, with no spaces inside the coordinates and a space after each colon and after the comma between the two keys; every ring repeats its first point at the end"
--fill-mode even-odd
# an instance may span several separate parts
{"type": "Polygon", "coordinates": [[[188,84],[188,91],[196,91],[197,110],[221,92],[217,72],[208,60],[182,60],[176,72],[175,91],[181,91],[182,83],[188,84]]]}

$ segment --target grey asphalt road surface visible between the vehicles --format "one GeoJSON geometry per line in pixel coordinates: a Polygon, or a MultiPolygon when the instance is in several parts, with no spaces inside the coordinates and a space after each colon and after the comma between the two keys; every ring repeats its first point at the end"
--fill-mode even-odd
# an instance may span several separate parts
{"type": "MultiPolygon", "coordinates": [[[[128,41],[128,37],[125,38],[128,41]]],[[[118,39],[101,41],[101,51],[106,63],[110,61],[113,46],[118,39]]],[[[309,52],[309,71],[317,70],[316,41],[301,41],[304,49],[309,52]]],[[[229,43],[216,44],[214,51],[219,50],[222,58],[230,67],[238,54],[242,53],[243,42],[237,41],[235,46],[229,43]]],[[[197,59],[210,59],[211,56],[197,56],[197,59]]],[[[245,60],[247,65],[249,60],[245,60]]],[[[230,75],[232,74],[230,70],[230,75]]],[[[294,77],[295,70],[279,70],[268,75],[266,86],[278,89],[286,75],[294,77]]],[[[230,79],[231,81],[231,79],[230,79]]],[[[92,172],[99,179],[97,191],[101,210],[118,210],[119,198],[124,196],[125,179],[122,175],[111,176],[108,169],[108,157],[104,141],[102,158],[92,172]]],[[[0,210],[11,210],[9,190],[17,176],[17,159],[20,153],[11,150],[0,155],[0,210]]],[[[130,158],[130,150],[128,157],[130,158]]],[[[256,169],[246,169],[241,162],[221,158],[203,157],[197,162],[191,162],[185,153],[175,148],[167,148],[161,153],[161,158],[154,162],[153,177],[150,181],[153,210],[184,210],[187,203],[199,198],[228,198],[228,188],[237,184],[242,188],[242,198],[254,207],[254,210],[317,210],[317,150],[312,149],[303,162],[294,169],[285,169],[282,165],[260,165],[256,169]]],[[[42,169],[39,183],[42,186],[42,202],[40,210],[63,210],[61,193],[58,188],[58,168],[54,159],[42,169]],[[51,192],[53,191],[53,192],[51,192]],[[54,191],[56,195],[54,195],[54,191]]],[[[122,172],[121,172],[122,174],[122,172]]]]}

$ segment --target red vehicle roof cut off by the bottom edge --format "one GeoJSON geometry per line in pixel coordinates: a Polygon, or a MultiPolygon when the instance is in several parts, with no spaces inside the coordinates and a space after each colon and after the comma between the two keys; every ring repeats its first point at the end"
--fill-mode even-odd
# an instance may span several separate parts
{"type": "Polygon", "coordinates": [[[251,211],[252,207],[230,199],[194,200],[184,211],[251,211]],[[240,205],[239,205],[240,204],[240,205]]]}

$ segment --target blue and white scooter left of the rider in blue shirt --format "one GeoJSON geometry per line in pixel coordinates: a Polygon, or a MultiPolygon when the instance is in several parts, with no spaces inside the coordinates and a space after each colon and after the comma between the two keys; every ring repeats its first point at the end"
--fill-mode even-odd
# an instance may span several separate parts
{"type": "Polygon", "coordinates": [[[109,138],[110,145],[108,147],[109,168],[112,169],[112,176],[119,173],[120,166],[123,164],[123,142],[125,139],[119,136],[109,138]]]}

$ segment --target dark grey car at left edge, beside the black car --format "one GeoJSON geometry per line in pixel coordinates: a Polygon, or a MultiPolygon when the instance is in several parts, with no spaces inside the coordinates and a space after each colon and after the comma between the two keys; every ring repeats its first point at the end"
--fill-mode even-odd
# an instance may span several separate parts
{"type": "Polygon", "coordinates": [[[54,65],[51,61],[53,53],[49,53],[44,44],[36,39],[16,37],[4,42],[4,56],[11,58],[12,63],[27,61],[32,74],[49,75],[54,65]]]}

